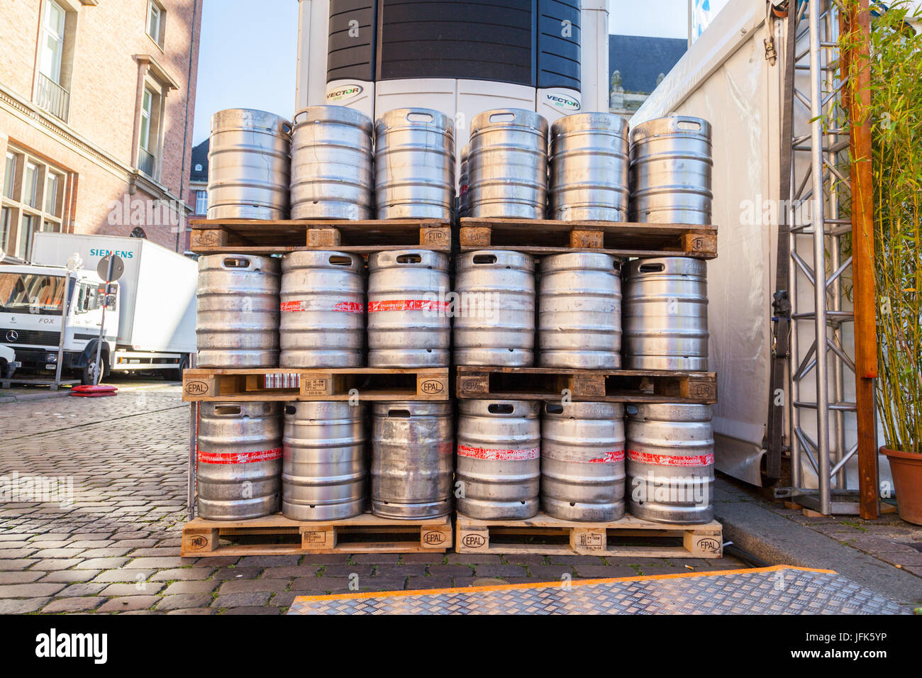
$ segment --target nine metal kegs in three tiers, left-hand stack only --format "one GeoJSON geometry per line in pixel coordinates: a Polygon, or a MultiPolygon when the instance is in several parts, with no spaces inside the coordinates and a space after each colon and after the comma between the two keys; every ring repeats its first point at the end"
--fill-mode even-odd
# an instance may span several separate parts
{"type": "MultiPolygon", "coordinates": [[[[213,219],[286,219],[290,206],[293,219],[450,220],[454,208],[454,125],[435,111],[393,111],[373,127],[341,106],[304,109],[293,127],[222,112],[211,158],[213,219]]],[[[198,366],[447,367],[448,271],[448,256],[422,248],[373,253],[367,266],[336,250],[202,256],[198,366]]],[[[449,402],[203,403],[198,513],[440,517],[453,451],[449,402]]]]}

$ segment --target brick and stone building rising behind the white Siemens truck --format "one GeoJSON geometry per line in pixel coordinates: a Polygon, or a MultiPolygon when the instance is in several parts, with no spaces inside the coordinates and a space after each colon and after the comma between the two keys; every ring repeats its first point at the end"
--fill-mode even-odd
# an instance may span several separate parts
{"type": "Polygon", "coordinates": [[[61,231],[183,251],[202,2],[0,1],[0,249],[61,231]]]}

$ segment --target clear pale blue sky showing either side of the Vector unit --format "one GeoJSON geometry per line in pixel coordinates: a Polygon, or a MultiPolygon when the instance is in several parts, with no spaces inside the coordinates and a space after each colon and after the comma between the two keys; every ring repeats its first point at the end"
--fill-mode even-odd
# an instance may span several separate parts
{"type": "MultiPolygon", "coordinates": [[[[609,33],[662,38],[688,36],[688,0],[610,0],[609,33]]],[[[711,0],[722,6],[727,0],[711,0]]],[[[198,144],[211,114],[256,108],[294,114],[298,48],[296,0],[205,0],[195,95],[198,144]]]]}

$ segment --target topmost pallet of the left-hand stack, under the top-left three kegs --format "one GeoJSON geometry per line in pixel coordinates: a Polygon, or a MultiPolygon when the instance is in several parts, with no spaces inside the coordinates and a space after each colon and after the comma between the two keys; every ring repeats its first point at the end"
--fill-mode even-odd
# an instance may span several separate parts
{"type": "Polygon", "coordinates": [[[274,255],[295,250],[368,254],[389,249],[450,252],[448,221],[414,220],[192,220],[190,247],[197,255],[274,255]]]}

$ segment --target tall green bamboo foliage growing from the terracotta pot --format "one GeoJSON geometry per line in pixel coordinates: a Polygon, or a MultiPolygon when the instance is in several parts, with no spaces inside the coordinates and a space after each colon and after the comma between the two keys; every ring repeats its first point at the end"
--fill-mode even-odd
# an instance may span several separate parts
{"type": "Polygon", "coordinates": [[[922,454],[922,9],[872,9],[876,396],[886,446],[922,454]]]}

